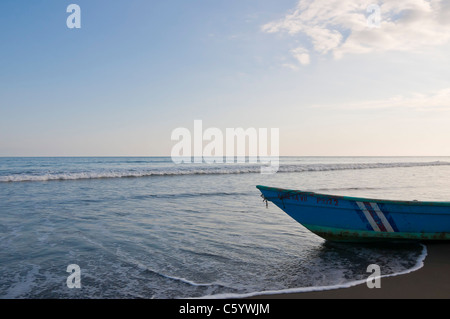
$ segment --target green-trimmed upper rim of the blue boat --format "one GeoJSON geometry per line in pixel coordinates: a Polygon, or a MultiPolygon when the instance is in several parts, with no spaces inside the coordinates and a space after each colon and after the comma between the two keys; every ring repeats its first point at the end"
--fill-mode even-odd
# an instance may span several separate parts
{"type": "Polygon", "coordinates": [[[295,190],[295,189],[285,189],[285,188],[278,188],[278,187],[270,187],[270,186],[263,186],[263,185],[256,185],[256,188],[259,190],[268,190],[268,191],[282,192],[282,193],[289,193],[289,194],[302,194],[302,195],[310,195],[310,196],[315,196],[315,197],[335,198],[335,199],[343,199],[343,200],[358,201],[358,202],[375,202],[375,203],[382,203],[382,204],[407,205],[407,206],[444,206],[444,207],[448,206],[448,207],[450,207],[450,202],[441,202],[441,201],[418,201],[418,200],[407,201],[407,200],[390,200],[390,199],[353,197],[353,196],[343,196],[343,195],[330,195],[330,194],[315,193],[315,192],[301,191],[301,190],[295,190]]]}

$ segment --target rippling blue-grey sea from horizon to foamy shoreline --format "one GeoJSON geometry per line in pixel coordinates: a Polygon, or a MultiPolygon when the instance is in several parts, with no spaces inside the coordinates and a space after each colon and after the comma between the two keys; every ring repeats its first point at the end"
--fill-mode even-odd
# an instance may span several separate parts
{"type": "Polygon", "coordinates": [[[369,265],[383,277],[420,269],[426,245],[325,241],[266,207],[256,185],[450,199],[450,157],[281,157],[274,174],[261,166],[0,158],[0,298],[219,299],[348,287],[368,280],[369,265]]]}

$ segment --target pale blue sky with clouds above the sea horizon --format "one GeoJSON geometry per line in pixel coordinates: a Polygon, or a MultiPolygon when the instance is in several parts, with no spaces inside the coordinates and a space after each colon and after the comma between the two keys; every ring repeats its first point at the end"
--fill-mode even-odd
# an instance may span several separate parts
{"type": "Polygon", "coordinates": [[[0,156],[167,156],[195,120],[450,156],[448,0],[2,0],[0,43],[0,156]]]}

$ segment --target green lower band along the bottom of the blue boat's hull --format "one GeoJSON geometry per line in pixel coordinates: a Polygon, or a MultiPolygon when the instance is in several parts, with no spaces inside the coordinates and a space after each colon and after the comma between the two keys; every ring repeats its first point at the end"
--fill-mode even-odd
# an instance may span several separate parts
{"type": "Polygon", "coordinates": [[[315,225],[303,225],[316,235],[330,241],[379,242],[379,241],[428,241],[449,240],[450,233],[403,233],[349,230],[315,225]]]}

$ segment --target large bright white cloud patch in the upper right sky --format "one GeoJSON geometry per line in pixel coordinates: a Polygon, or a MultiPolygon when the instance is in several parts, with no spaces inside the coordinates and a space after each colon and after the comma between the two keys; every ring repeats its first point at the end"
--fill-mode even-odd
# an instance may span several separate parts
{"type": "MultiPolygon", "coordinates": [[[[302,0],[280,20],[262,26],[267,33],[306,36],[316,54],[336,59],[348,54],[422,50],[450,40],[450,3],[445,0],[302,0]],[[370,24],[379,13],[376,28],[370,24]]],[[[296,50],[291,54],[301,63],[296,50]]]]}

